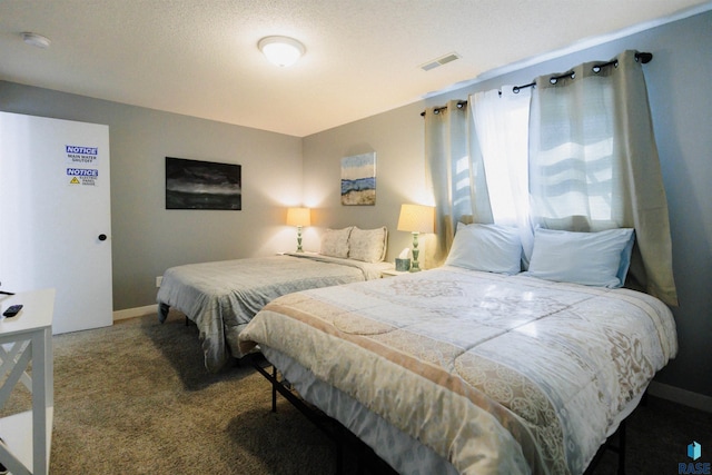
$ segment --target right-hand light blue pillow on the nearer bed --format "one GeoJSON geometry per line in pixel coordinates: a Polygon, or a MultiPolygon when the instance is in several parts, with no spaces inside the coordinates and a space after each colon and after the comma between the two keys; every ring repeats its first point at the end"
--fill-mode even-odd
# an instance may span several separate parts
{"type": "Polygon", "coordinates": [[[631,263],[633,229],[572,232],[537,228],[530,276],[589,286],[621,287],[631,263]]]}

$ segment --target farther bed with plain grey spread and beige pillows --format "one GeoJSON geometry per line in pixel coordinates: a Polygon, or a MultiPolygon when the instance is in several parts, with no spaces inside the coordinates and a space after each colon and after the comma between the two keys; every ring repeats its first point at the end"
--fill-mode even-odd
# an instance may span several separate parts
{"type": "Polygon", "coordinates": [[[182,311],[199,330],[209,372],[244,356],[238,335],[276,297],[297,290],[380,277],[386,228],[327,229],[319,253],[286,253],[176,266],[164,273],[157,301],[162,323],[169,309],[182,311]]]}

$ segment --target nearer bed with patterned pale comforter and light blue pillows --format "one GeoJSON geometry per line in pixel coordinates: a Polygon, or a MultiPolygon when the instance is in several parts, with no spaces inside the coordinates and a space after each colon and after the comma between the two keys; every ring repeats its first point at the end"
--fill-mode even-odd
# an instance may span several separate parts
{"type": "MultiPolygon", "coordinates": [[[[678,350],[670,309],[620,288],[630,236],[609,246],[603,285],[583,285],[553,278],[540,236],[510,275],[473,269],[456,235],[442,268],[271,301],[240,349],[398,473],[583,473],[678,350]]],[[[596,280],[606,251],[589,250],[596,280]]]]}

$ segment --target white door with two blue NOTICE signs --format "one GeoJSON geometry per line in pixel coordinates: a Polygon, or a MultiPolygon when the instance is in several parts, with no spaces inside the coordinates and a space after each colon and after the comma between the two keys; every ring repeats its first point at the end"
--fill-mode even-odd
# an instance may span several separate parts
{"type": "Polygon", "coordinates": [[[55,288],[55,334],[112,323],[109,127],[0,112],[0,290],[55,288]]]}

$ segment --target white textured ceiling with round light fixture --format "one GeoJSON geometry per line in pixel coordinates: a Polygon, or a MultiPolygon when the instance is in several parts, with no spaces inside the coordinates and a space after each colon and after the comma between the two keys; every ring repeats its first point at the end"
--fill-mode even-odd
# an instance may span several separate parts
{"type": "MultiPolygon", "coordinates": [[[[304,137],[708,0],[0,0],[0,79],[304,137]],[[26,44],[31,31],[48,49],[26,44]],[[263,37],[306,55],[269,63],[263,37]],[[459,59],[421,67],[455,52],[459,59]]],[[[591,43],[591,44],[590,44],[591,43]]]]}

